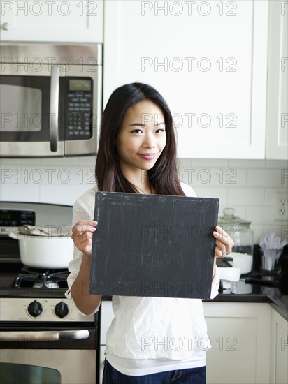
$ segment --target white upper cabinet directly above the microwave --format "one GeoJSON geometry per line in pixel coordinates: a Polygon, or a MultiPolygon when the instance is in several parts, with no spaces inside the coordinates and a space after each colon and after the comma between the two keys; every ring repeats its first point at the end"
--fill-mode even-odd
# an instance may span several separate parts
{"type": "Polygon", "coordinates": [[[3,0],[1,40],[103,43],[103,0],[3,0]]]}

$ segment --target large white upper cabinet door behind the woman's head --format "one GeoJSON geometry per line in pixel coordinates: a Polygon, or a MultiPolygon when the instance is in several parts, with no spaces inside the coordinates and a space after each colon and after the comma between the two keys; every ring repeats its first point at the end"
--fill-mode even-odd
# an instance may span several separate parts
{"type": "Polygon", "coordinates": [[[106,1],[104,105],[147,82],[180,158],[264,158],[268,1],[106,1]]]}

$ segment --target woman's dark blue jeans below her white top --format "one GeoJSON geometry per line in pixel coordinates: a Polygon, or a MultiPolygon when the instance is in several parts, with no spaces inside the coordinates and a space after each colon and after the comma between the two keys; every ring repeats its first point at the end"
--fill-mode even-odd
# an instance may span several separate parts
{"type": "Polygon", "coordinates": [[[179,369],[144,376],[120,374],[105,360],[103,384],[206,384],[206,367],[179,369]]]}

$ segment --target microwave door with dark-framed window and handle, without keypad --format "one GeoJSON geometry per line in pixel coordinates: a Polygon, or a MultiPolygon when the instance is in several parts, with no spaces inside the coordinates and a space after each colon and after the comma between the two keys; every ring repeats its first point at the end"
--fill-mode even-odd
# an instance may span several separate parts
{"type": "Polygon", "coordinates": [[[59,94],[65,94],[65,72],[44,64],[37,69],[1,66],[1,157],[64,156],[59,94]]]}

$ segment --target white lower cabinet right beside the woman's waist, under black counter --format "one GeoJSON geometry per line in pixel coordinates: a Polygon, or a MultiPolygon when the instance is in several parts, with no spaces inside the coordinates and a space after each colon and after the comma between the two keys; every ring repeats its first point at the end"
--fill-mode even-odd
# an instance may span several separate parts
{"type": "Polygon", "coordinates": [[[270,383],[271,306],[204,302],[208,384],[270,383]]]}

